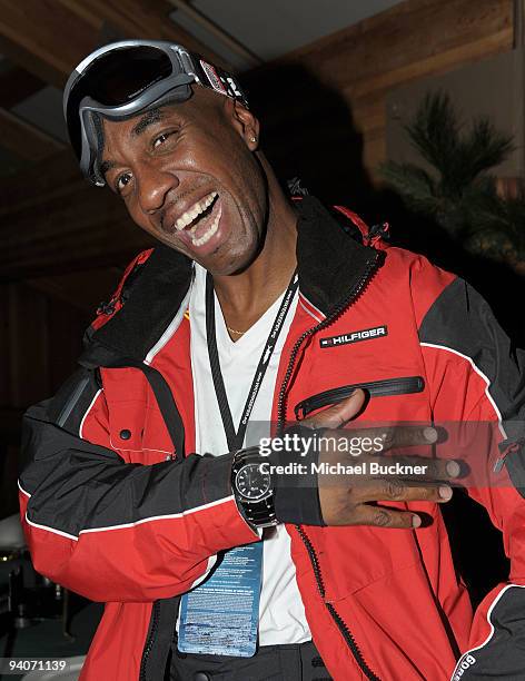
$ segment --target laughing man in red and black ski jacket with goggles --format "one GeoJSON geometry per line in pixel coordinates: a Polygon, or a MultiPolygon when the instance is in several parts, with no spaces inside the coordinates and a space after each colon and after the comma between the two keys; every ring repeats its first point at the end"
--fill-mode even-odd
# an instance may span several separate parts
{"type": "Polygon", "coordinates": [[[519,415],[523,355],[479,296],[353,214],[355,238],[293,205],[236,79],[184,48],[101,48],[65,111],[83,174],[162,244],[27,415],[34,566],[107,603],[82,678],[522,679],[517,436],[505,458],[475,452],[498,484],[469,492],[513,568],[473,620],[438,509],[455,453],[429,456],[434,427],[379,425],[519,415]],[[385,461],[398,471],[370,473],[385,461]]]}

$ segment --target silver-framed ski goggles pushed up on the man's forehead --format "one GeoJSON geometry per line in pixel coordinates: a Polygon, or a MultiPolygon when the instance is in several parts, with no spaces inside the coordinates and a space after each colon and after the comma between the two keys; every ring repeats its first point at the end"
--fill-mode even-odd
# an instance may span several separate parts
{"type": "Polygon", "coordinates": [[[180,45],[160,40],[121,40],[81,61],[66,83],[63,115],[80,170],[91,182],[106,184],[100,172],[98,116],[111,120],[191,97],[196,82],[248,106],[238,80],[180,45]]]}

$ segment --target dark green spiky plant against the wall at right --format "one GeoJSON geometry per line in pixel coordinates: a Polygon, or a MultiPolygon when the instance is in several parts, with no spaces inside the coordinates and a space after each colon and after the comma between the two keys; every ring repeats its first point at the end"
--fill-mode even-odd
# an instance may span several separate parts
{"type": "Polygon", "coordinates": [[[465,126],[445,92],[428,93],[405,130],[429,170],[387,161],[382,177],[408,208],[430,217],[473,253],[525,261],[525,201],[504,199],[489,170],[514,150],[487,118],[465,126]]]}

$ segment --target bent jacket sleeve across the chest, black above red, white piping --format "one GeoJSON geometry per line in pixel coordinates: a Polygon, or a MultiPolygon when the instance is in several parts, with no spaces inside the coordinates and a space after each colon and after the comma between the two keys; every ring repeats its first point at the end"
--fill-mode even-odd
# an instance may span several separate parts
{"type": "Polygon", "coordinates": [[[126,463],[103,408],[97,443],[79,435],[81,413],[103,401],[93,372],[57,397],[24,416],[20,507],[38,572],[93,601],[155,601],[199,583],[217,552],[259,539],[237,511],[230,454],[126,463]]]}

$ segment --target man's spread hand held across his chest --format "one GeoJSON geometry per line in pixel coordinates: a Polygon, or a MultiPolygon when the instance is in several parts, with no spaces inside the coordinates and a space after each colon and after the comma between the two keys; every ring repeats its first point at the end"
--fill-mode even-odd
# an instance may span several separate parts
{"type": "MultiPolygon", "coordinates": [[[[324,446],[319,454],[319,464],[326,470],[338,466],[359,466],[361,472],[355,474],[319,473],[318,488],[323,520],[327,525],[374,525],[379,527],[418,527],[419,515],[410,512],[394,511],[376,502],[427,501],[447,502],[453,494],[448,482],[460,473],[459,464],[454,460],[438,460],[423,456],[382,456],[374,453],[361,453],[358,456],[349,453],[349,446],[335,446],[340,438],[369,438],[379,443],[380,454],[389,450],[414,445],[430,445],[437,440],[433,427],[394,426],[389,428],[340,430],[346,422],[359,413],[365,402],[365,394],[358,389],[354,395],[337,405],[305,418],[301,425],[315,428],[330,428],[323,435],[324,446]],[[340,451],[345,450],[345,451],[340,451]],[[400,464],[406,471],[410,466],[420,466],[423,473],[404,472],[400,475],[374,474],[374,464],[400,464]]],[[[354,442],[356,442],[354,440],[354,442]]]]}

